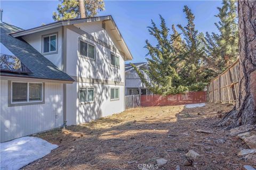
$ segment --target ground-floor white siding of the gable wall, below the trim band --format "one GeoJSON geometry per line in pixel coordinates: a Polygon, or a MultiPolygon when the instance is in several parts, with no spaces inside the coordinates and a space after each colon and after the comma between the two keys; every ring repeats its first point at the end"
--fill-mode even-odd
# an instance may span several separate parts
{"type": "Polygon", "coordinates": [[[75,125],[124,111],[124,86],[77,83],[67,84],[67,125],[75,125]],[[79,105],[79,86],[94,87],[94,103],[79,105]],[[119,88],[119,100],[110,101],[110,88],[119,88]]]}

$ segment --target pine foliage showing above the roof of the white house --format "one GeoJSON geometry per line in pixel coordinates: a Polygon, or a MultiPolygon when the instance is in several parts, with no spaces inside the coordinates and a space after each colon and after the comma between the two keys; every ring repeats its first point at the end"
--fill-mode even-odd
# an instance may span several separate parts
{"type": "MultiPolygon", "coordinates": [[[[60,4],[57,7],[57,12],[53,13],[53,20],[68,20],[68,19],[76,19],[81,18],[81,12],[79,10],[79,0],[60,0],[60,4]]],[[[105,10],[105,4],[103,0],[84,0],[84,10],[85,16],[83,17],[91,17],[97,15],[99,11],[105,10]]]]}

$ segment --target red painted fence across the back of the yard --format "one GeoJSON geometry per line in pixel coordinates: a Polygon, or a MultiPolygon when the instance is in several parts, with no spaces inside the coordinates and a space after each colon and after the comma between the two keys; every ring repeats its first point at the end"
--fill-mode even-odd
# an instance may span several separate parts
{"type": "Polygon", "coordinates": [[[206,102],[206,91],[188,92],[169,96],[141,95],[141,106],[174,106],[206,102]]]}

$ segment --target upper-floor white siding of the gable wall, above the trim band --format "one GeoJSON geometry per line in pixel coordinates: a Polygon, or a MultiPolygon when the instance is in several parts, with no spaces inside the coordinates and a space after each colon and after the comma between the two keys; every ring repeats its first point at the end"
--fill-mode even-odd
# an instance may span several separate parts
{"type": "Polygon", "coordinates": [[[120,68],[111,66],[111,51],[78,33],[67,29],[67,73],[76,77],[103,79],[124,82],[124,60],[120,59],[120,68]],[[78,39],[82,38],[95,45],[95,60],[78,57],[78,39]]]}

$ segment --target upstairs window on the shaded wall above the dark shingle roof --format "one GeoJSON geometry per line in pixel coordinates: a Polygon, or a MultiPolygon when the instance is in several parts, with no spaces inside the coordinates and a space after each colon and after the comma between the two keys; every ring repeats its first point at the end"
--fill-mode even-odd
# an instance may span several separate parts
{"type": "Polygon", "coordinates": [[[43,36],[43,53],[57,52],[57,34],[43,36]]]}

